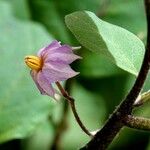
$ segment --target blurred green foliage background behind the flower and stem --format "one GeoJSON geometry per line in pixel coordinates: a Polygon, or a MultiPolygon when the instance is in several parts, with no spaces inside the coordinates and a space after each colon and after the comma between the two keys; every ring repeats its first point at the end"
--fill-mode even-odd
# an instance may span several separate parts
{"type": "MultiPolygon", "coordinates": [[[[141,0],[0,0],[0,150],[74,150],[89,138],[81,131],[64,101],[40,95],[24,64],[24,56],[53,39],[79,46],[64,23],[65,15],[89,10],[110,23],[146,39],[144,4],[141,0]],[[54,141],[62,116],[66,127],[58,144],[54,141]],[[52,148],[53,146],[53,148],[52,148]]],[[[83,57],[72,67],[80,75],[65,83],[76,99],[85,125],[96,130],[132,87],[135,77],[84,47],[83,57]]],[[[148,78],[143,91],[150,89],[148,78]]],[[[150,105],[134,111],[148,117],[150,105]]],[[[110,150],[150,150],[149,132],[121,130],[110,150]]]]}

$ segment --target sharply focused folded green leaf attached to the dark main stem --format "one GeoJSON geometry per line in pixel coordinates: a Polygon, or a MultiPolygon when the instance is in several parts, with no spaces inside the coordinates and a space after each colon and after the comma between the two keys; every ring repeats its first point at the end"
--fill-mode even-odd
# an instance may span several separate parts
{"type": "Polygon", "coordinates": [[[125,71],[138,74],[145,48],[134,34],[99,19],[89,11],[67,15],[65,22],[87,49],[107,57],[125,71]]]}

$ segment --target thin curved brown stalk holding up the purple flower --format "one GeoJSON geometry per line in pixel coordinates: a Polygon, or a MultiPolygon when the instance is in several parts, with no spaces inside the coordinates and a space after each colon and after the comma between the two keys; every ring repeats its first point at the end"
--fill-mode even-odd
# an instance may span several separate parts
{"type": "Polygon", "coordinates": [[[77,111],[76,111],[76,107],[75,107],[75,100],[73,97],[71,97],[65,90],[64,88],[61,86],[61,84],[59,82],[56,82],[56,85],[58,87],[58,89],[60,90],[61,94],[63,95],[63,97],[68,101],[68,103],[71,106],[72,112],[74,114],[74,117],[78,123],[78,125],[80,126],[80,128],[90,137],[93,137],[93,135],[89,132],[89,130],[83,125],[77,111]]]}

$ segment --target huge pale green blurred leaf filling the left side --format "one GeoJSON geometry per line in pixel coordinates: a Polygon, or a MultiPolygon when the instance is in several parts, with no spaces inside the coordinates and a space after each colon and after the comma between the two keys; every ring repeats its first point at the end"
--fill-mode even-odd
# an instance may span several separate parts
{"type": "Polygon", "coordinates": [[[41,96],[24,64],[24,56],[36,54],[52,39],[44,28],[21,22],[0,2],[0,142],[23,138],[52,111],[50,98],[41,96]]]}

